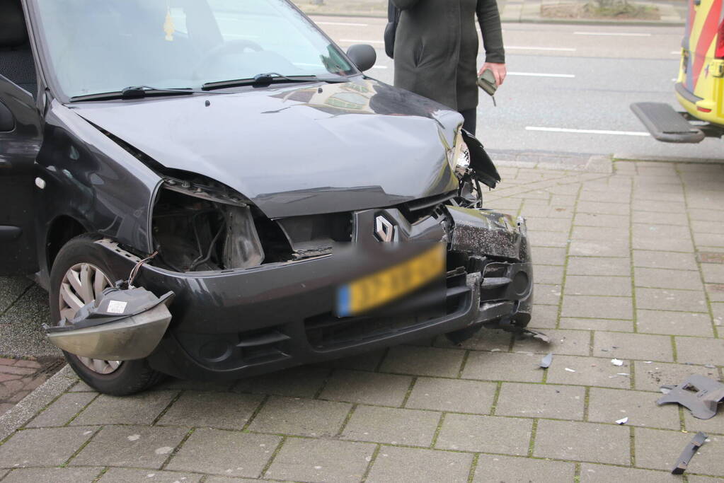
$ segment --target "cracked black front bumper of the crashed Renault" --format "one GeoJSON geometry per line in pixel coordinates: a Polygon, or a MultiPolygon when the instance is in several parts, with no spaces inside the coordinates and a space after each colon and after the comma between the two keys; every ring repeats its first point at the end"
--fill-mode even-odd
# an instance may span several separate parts
{"type": "MultiPolygon", "coordinates": [[[[411,238],[421,230],[424,238],[447,239],[445,300],[432,312],[335,317],[334,287],[361,267],[342,274],[334,257],[209,273],[144,265],[138,285],[175,294],[151,366],[175,377],[236,379],[473,326],[522,330],[533,300],[525,222],[484,210],[445,211],[437,223],[409,223],[395,209],[355,213],[358,230],[384,213],[411,238]]],[[[130,269],[132,260],[104,243],[109,262],[130,269]]]]}

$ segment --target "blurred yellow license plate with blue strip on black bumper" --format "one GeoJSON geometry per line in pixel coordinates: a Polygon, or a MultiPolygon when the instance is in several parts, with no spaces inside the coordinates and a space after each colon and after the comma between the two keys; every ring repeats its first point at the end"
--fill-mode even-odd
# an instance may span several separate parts
{"type": "Polygon", "coordinates": [[[347,317],[380,307],[424,286],[445,271],[445,244],[411,260],[380,270],[337,289],[337,316],[347,317]]]}

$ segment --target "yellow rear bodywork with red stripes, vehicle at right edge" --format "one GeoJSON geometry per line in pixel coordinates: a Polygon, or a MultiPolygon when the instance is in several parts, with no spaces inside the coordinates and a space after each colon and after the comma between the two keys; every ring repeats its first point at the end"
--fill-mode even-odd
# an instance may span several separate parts
{"type": "Polygon", "coordinates": [[[715,59],[722,0],[689,0],[676,98],[691,116],[724,126],[724,60],[715,59]]]}

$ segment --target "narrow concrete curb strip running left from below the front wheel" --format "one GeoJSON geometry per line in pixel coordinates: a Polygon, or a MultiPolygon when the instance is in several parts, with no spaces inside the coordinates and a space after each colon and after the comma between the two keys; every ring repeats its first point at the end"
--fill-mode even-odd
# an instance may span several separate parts
{"type": "Polygon", "coordinates": [[[67,364],[55,373],[53,377],[43,385],[39,386],[32,393],[0,416],[0,441],[12,435],[23,424],[38,414],[38,411],[48,406],[58,396],[64,393],[78,380],[75,373],[67,364]]]}

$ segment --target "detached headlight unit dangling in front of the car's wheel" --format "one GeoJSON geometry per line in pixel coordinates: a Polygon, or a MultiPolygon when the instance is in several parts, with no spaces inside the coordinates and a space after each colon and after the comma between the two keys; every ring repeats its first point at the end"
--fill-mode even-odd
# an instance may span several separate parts
{"type": "Polygon", "coordinates": [[[46,333],[51,343],[77,356],[109,361],[143,359],[156,349],[171,322],[168,304],[146,288],[106,288],[103,296],[81,307],[46,333]]]}

